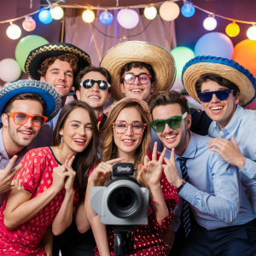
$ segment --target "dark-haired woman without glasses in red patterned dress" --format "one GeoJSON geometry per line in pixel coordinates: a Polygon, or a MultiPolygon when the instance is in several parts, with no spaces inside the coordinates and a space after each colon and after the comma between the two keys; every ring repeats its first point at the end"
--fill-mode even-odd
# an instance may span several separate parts
{"type": "Polygon", "coordinates": [[[15,177],[21,189],[12,190],[0,209],[0,255],[46,255],[42,237],[50,224],[55,235],[71,224],[97,147],[95,113],[84,102],[69,102],[60,113],[54,146],[32,149],[21,160],[15,177]]]}

